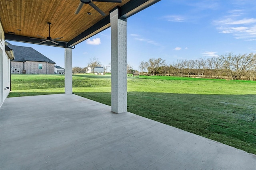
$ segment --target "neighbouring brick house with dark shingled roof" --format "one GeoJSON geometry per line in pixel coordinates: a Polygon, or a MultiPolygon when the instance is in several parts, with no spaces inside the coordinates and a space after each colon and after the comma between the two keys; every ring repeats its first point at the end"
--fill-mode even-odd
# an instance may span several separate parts
{"type": "Polygon", "coordinates": [[[12,74],[54,74],[54,61],[48,59],[31,47],[11,45],[15,59],[11,61],[12,74]]]}

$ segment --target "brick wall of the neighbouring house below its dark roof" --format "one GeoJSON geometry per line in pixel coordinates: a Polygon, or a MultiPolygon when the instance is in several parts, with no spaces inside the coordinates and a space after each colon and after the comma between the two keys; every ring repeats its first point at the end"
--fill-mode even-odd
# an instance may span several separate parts
{"type": "Polygon", "coordinates": [[[26,74],[54,74],[54,64],[38,61],[11,62],[12,74],[22,74],[22,70],[26,70],[26,74]],[[42,64],[42,69],[39,69],[38,64],[42,64]]]}

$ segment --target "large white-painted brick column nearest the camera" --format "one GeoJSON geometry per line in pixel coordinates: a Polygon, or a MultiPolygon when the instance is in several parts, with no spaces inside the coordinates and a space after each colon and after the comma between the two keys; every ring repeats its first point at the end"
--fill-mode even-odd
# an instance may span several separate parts
{"type": "Polygon", "coordinates": [[[111,110],[127,111],[127,23],[118,9],[110,13],[111,26],[111,110]]]}

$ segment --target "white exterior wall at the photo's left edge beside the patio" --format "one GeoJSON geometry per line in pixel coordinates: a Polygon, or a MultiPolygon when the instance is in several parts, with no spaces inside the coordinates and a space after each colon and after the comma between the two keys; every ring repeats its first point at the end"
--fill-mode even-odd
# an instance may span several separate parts
{"type": "Polygon", "coordinates": [[[5,53],[4,31],[0,22],[0,107],[10,93],[10,59],[5,53]]]}

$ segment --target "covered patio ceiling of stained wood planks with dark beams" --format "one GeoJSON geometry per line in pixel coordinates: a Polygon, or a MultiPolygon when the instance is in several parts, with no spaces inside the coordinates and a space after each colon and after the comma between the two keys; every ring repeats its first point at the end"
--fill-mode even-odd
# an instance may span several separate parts
{"type": "Polygon", "coordinates": [[[74,14],[80,0],[1,0],[0,21],[6,40],[70,48],[110,27],[112,10],[119,8],[120,19],[126,20],[158,1],[93,2],[106,14],[102,16],[88,4],[82,6],[79,14],[74,14]],[[38,35],[49,35],[48,22],[50,37],[63,37],[57,40],[58,45],[40,43],[42,39],[38,35]]]}

